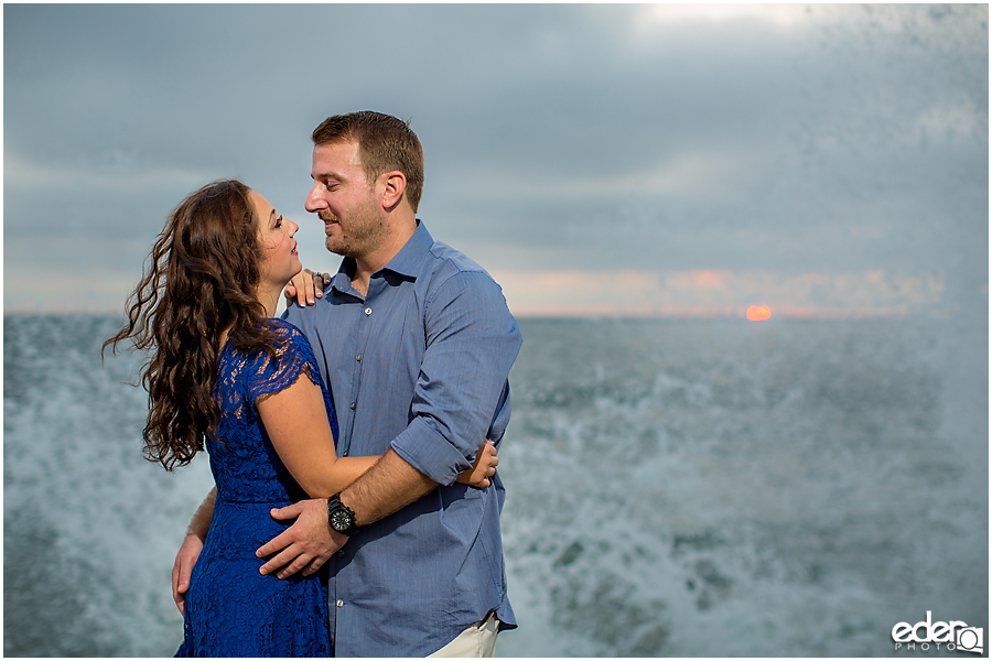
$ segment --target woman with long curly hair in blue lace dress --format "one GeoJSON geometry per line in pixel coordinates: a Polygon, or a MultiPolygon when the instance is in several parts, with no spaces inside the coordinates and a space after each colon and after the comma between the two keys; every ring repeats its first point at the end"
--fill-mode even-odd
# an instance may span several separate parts
{"type": "MultiPolygon", "coordinates": [[[[256,191],[219,181],[170,216],[104,345],[150,349],[145,456],[173,469],[211,455],[216,503],[184,611],[176,655],[328,655],[321,573],[259,574],[255,551],[283,524],[272,508],[337,494],[378,457],[338,458],[337,420],[306,338],[272,318],[301,270],[299,227],[256,191]],[[305,376],[305,378],[301,378],[305,376]]],[[[459,481],[486,486],[489,444],[459,481]]]]}

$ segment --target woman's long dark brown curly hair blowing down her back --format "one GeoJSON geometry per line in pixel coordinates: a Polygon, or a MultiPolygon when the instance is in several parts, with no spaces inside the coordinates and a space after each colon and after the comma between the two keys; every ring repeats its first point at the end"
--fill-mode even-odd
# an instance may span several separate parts
{"type": "Polygon", "coordinates": [[[263,257],[249,188],[236,180],[207,184],[172,212],[128,299],[128,321],[104,343],[130,339],[149,350],[141,370],[148,391],[144,456],[172,470],[188,464],[214,437],[220,338],[274,359],[274,334],[258,301],[263,257]]]}

